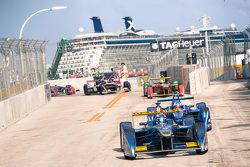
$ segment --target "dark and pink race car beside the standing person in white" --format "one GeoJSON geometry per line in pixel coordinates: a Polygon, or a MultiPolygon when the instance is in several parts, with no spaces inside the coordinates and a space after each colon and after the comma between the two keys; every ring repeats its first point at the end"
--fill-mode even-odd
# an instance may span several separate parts
{"type": "Polygon", "coordinates": [[[94,80],[88,80],[83,85],[85,95],[91,94],[108,94],[121,90],[121,82],[118,74],[103,73],[100,77],[95,77],[94,80]]]}

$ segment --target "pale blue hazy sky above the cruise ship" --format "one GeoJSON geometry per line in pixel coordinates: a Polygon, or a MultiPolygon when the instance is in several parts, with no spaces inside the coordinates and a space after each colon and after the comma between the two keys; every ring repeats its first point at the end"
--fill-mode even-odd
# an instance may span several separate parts
{"type": "Polygon", "coordinates": [[[204,15],[220,28],[234,23],[238,30],[244,30],[250,24],[250,0],[0,0],[0,38],[18,38],[32,13],[52,6],[67,9],[39,13],[23,30],[23,39],[48,41],[47,63],[53,61],[62,37],[74,38],[79,27],[85,33],[94,31],[92,16],[100,17],[105,32],[125,30],[122,18],[131,16],[137,29],[163,35],[173,34],[176,27],[201,27],[204,15]]]}

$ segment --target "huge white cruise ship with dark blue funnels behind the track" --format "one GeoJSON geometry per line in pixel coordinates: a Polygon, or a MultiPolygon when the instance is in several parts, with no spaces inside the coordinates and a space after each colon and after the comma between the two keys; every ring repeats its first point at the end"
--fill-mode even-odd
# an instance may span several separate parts
{"type": "MultiPolygon", "coordinates": [[[[161,48],[162,43],[172,46],[171,44],[192,43],[199,39],[203,42],[196,51],[201,55],[204,54],[204,49],[209,51],[216,42],[229,42],[235,45],[234,54],[240,55],[237,64],[241,64],[246,48],[250,48],[249,28],[238,31],[232,24],[227,29],[220,29],[210,26],[207,16],[202,18],[202,27],[191,26],[186,31],[176,28],[176,33],[169,36],[159,35],[152,30],[137,30],[131,17],[123,19],[126,28],[124,31],[104,32],[100,18],[92,17],[94,33],[84,33],[80,29],[80,33],[73,39],[62,38],[50,69],[50,78],[69,74],[87,76],[92,68],[97,67],[101,72],[119,71],[122,62],[130,72],[144,74],[153,63],[161,60],[161,56],[164,57],[171,49],[176,49],[161,48]]],[[[186,64],[186,54],[190,52],[190,46],[177,49],[176,65],[186,64]]]]}

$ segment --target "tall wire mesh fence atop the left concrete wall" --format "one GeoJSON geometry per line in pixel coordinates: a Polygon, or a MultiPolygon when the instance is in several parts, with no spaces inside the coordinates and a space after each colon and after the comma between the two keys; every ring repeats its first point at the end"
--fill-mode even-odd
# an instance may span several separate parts
{"type": "Polygon", "coordinates": [[[47,82],[46,41],[0,39],[0,101],[47,82]]]}

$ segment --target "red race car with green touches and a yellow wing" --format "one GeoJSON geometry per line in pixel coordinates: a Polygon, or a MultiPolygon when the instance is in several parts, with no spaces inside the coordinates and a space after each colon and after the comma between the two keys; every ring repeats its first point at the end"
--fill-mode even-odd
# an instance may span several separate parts
{"type": "Polygon", "coordinates": [[[167,97],[179,92],[179,84],[177,81],[170,83],[170,77],[148,78],[143,85],[143,95],[148,98],[167,97]]]}

